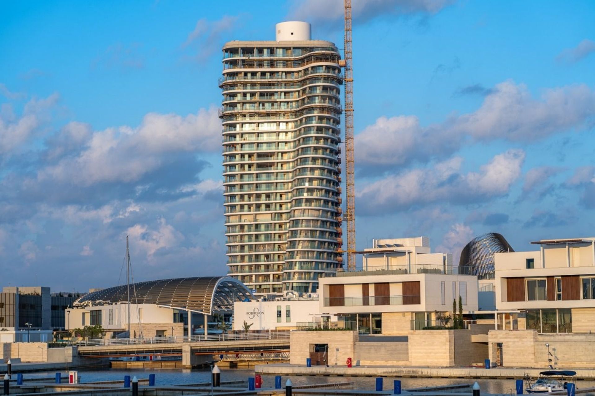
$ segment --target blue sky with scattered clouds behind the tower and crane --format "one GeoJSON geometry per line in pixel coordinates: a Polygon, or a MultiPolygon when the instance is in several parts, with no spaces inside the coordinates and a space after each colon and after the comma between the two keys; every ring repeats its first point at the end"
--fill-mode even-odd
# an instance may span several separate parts
{"type": "MultiPolygon", "coordinates": [[[[226,273],[217,80],[227,40],[342,1],[0,2],[2,284],[226,273]]],[[[354,0],[358,247],[593,236],[595,3],[354,0]]]]}

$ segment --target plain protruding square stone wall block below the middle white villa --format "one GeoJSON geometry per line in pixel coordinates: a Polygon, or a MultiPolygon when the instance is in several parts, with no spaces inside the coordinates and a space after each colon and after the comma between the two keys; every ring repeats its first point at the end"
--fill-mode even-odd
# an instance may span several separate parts
{"type": "Polygon", "coordinates": [[[455,330],[409,332],[409,364],[412,366],[455,365],[455,330]]]}

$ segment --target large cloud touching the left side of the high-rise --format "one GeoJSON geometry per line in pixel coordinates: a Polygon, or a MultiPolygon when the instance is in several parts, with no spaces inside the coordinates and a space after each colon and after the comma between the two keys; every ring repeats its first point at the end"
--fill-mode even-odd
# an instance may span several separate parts
{"type": "Polygon", "coordinates": [[[174,154],[221,150],[217,108],[185,117],[148,113],[138,128],[122,126],[93,132],[77,156],[40,170],[40,180],[90,186],[135,182],[161,167],[174,154]]]}

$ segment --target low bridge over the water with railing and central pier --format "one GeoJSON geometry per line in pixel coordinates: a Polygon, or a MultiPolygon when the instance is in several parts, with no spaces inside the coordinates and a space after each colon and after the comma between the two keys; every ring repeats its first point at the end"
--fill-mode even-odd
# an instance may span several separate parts
{"type": "Polygon", "coordinates": [[[76,343],[81,357],[124,357],[140,355],[182,356],[186,367],[197,366],[213,355],[289,353],[289,331],[241,334],[192,335],[82,340],[76,343]]]}

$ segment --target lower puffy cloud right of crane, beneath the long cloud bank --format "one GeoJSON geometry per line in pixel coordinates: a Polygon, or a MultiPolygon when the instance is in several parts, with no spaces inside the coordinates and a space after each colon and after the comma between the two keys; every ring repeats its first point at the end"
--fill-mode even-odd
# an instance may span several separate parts
{"type": "Polygon", "coordinates": [[[508,194],[521,176],[524,159],[524,151],[508,150],[482,165],[479,172],[462,175],[463,159],[455,157],[430,169],[413,169],[366,185],[358,192],[358,201],[364,202],[367,213],[431,202],[485,202],[508,194]]]}

